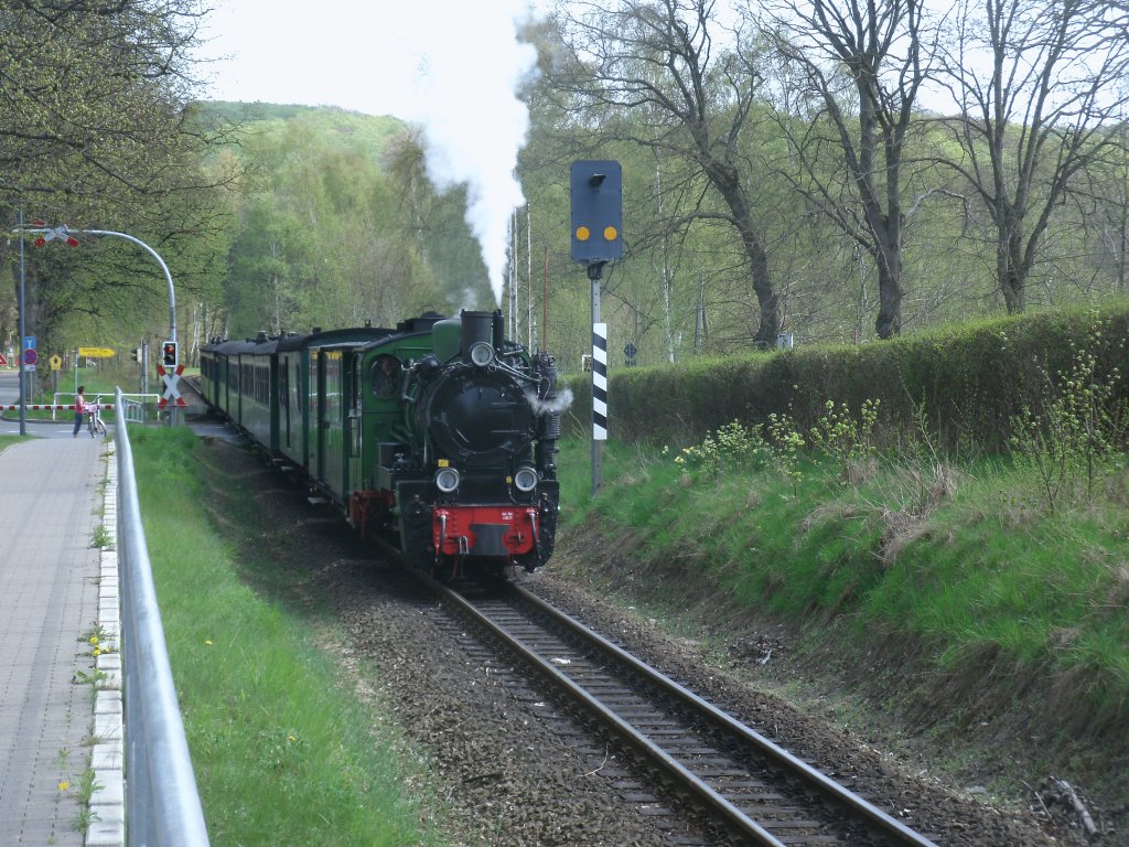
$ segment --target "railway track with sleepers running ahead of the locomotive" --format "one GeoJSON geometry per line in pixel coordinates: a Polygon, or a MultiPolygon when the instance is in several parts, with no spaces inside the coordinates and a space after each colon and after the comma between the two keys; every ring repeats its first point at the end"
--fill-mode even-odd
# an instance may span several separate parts
{"type": "Polygon", "coordinates": [[[772,740],[516,585],[444,600],[745,844],[936,847],[772,740]]]}

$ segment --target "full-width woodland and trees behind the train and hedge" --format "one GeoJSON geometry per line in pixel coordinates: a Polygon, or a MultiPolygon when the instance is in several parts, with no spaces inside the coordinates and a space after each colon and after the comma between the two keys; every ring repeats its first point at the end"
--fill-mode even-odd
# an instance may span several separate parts
{"type": "MultiPolygon", "coordinates": [[[[816,1],[735,20],[702,0],[562,5],[526,33],[541,56],[522,91],[528,202],[495,304],[465,193],[430,187],[415,129],[201,101],[184,58],[193,0],[19,0],[0,10],[0,58],[36,70],[0,93],[0,209],[9,228],[23,211],[158,250],[190,363],[216,335],[500,307],[511,337],[577,370],[590,320],[569,259],[579,158],[623,165],[625,254],[603,288],[613,367],[629,341],[657,365],[780,333],[864,343],[1094,303],[1123,294],[1129,242],[1129,46],[1105,37],[1123,21],[1102,9],[962,2],[933,20],[916,2],[816,1]],[[984,49],[996,62],[970,75],[962,60],[984,49]],[[126,85],[81,85],[94,62],[126,85]],[[930,87],[960,107],[930,111],[930,87]]],[[[80,242],[28,247],[41,351],[167,334],[151,260],[80,242]]],[[[18,248],[0,250],[14,280],[18,248]]],[[[8,344],[15,290],[0,292],[8,344]]]]}

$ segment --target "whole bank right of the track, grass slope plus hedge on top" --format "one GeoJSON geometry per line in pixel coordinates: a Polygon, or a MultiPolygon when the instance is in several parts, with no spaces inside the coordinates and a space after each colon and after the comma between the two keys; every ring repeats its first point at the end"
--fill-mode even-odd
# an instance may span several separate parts
{"type": "Polygon", "coordinates": [[[1129,844],[1124,320],[613,379],[595,498],[566,445],[553,571],[959,787],[1129,844]]]}

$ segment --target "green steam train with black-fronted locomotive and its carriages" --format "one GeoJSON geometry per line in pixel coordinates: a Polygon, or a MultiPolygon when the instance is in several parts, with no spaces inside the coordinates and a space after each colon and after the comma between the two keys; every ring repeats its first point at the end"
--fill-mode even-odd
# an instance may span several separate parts
{"type": "Polygon", "coordinates": [[[500,312],[216,341],[201,388],[364,538],[441,578],[533,570],[553,552],[557,367],[500,312]]]}

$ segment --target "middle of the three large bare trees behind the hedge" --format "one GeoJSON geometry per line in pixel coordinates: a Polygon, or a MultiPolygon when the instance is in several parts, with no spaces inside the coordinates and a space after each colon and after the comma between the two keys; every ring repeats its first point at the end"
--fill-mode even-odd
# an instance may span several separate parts
{"type": "MultiPolygon", "coordinates": [[[[877,267],[879,338],[901,331],[902,168],[926,73],[921,6],[920,0],[785,2],[764,27],[784,63],[820,104],[800,120],[778,112],[799,165],[793,182],[877,267]],[[829,167],[829,157],[840,156],[841,167],[829,167]]],[[[795,106],[794,96],[788,104],[795,106]]]]}

